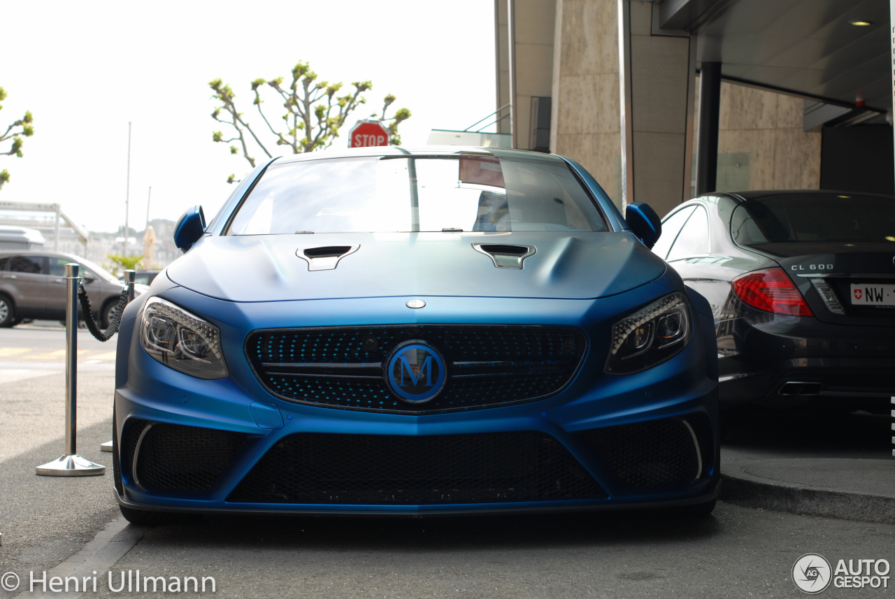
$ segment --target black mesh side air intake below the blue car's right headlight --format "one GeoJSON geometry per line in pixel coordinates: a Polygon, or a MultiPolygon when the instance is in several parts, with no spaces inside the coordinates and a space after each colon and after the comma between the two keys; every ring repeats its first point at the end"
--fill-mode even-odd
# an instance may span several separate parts
{"type": "Polygon", "coordinates": [[[581,434],[622,485],[635,489],[689,485],[705,474],[710,467],[707,462],[713,460],[707,423],[701,416],[692,419],[700,448],[684,420],[678,418],[607,426],[581,434]]]}

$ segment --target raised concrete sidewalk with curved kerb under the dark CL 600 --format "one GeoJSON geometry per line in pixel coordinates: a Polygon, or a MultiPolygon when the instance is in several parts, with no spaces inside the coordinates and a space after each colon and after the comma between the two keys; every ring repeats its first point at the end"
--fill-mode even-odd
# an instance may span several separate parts
{"type": "Polygon", "coordinates": [[[895,524],[889,418],[756,413],[721,448],[720,499],[751,508],[895,524]],[[762,432],[756,432],[763,426],[762,432]],[[846,449],[848,448],[848,449],[846,449]]]}

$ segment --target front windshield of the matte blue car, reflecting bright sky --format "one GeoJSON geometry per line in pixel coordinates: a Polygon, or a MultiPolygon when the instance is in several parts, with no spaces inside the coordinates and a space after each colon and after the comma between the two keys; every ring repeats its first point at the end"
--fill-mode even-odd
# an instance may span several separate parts
{"type": "Polygon", "coordinates": [[[227,234],[608,230],[563,163],[452,155],[270,165],[227,234]]]}

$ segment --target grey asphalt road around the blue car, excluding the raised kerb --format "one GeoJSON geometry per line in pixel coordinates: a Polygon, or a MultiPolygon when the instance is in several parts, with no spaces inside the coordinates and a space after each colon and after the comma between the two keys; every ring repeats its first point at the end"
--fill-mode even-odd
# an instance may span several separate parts
{"type": "MultiPolygon", "coordinates": [[[[124,526],[112,497],[110,456],[98,451],[110,434],[114,339],[102,344],[79,335],[86,350],[79,356],[79,452],[106,464],[109,474],[34,475],[63,450],[64,364],[56,353],[63,342],[61,327],[0,329],[0,575],[13,572],[23,583],[0,589],[2,599],[27,587],[30,571],[40,578],[44,570],[79,567],[98,570],[97,592],[83,596],[104,597],[158,595],[151,588],[108,589],[108,570],[117,586],[121,571],[137,569],[141,577],[168,580],[214,577],[215,595],[232,597],[795,597],[802,594],[791,568],[804,553],[833,563],[895,562],[895,527],[723,502],[712,517],[696,520],[628,511],[204,517],[151,529],[124,526]]],[[[778,415],[771,426],[761,414],[751,418],[753,426],[737,429],[723,451],[858,456],[889,448],[882,417],[778,415]]],[[[886,593],[830,588],[823,595],[886,593]]]]}

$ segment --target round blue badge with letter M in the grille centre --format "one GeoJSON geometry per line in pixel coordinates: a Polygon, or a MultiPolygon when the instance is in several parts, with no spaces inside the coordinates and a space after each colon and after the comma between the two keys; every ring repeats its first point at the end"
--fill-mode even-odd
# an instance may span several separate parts
{"type": "Polygon", "coordinates": [[[398,345],[386,365],[388,387],[404,401],[422,403],[439,394],[445,384],[445,361],[424,342],[398,345]]]}

